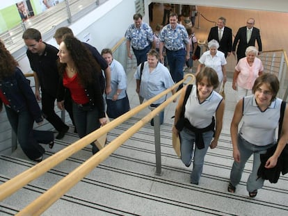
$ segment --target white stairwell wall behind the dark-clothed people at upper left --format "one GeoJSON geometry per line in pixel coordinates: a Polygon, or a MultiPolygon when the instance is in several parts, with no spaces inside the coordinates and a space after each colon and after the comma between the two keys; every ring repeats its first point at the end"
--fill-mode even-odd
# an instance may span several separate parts
{"type": "MultiPolygon", "coordinates": [[[[134,0],[106,1],[69,27],[79,40],[85,41],[85,36],[90,35],[88,43],[101,52],[103,48],[113,47],[120,38],[124,37],[127,27],[133,23],[134,13],[134,0]]],[[[45,42],[58,48],[54,38],[45,42]]],[[[31,72],[26,55],[17,60],[23,72],[31,72]]]]}

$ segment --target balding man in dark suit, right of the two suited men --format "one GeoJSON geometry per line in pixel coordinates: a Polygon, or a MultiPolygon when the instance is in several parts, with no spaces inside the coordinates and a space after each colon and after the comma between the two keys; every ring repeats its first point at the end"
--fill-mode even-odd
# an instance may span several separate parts
{"type": "Polygon", "coordinates": [[[247,20],[246,26],[239,28],[237,35],[235,36],[233,47],[232,47],[232,53],[235,56],[235,50],[238,44],[237,61],[239,61],[239,59],[246,56],[245,51],[247,47],[250,47],[250,46],[255,47],[256,40],[257,40],[258,50],[259,50],[258,55],[262,51],[260,31],[259,31],[259,28],[254,27],[254,24],[255,24],[255,19],[249,18],[247,20]]]}

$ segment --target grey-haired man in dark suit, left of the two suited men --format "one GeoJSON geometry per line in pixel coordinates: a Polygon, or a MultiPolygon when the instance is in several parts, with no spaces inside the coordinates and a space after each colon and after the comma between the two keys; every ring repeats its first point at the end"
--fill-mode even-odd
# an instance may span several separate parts
{"type": "Polygon", "coordinates": [[[212,39],[217,40],[220,47],[218,50],[225,54],[225,58],[230,56],[232,51],[232,29],[225,26],[226,19],[224,17],[219,17],[217,26],[210,29],[208,35],[208,42],[212,39]]]}

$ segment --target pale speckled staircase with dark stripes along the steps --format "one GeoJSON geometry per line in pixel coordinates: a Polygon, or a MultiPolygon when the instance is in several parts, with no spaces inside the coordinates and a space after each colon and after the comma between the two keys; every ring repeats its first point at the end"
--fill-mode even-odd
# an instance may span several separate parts
{"type": "MultiPolygon", "coordinates": [[[[127,74],[127,92],[132,108],[138,105],[134,70],[132,67],[127,74]]],[[[230,85],[231,80],[226,86],[230,85]]],[[[161,176],[155,174],[154,128],[146,124],[42,215],[287,215],[287,176],[281,176],[277,184],[265,182],[255,199],[248,197],[246,180],[252,168],[251,160],[248,160],[237,192],[227,192],[233,162],[230,121],[235,102],[232,91],[226,88],[223,131],[218,147],[207,152],[199,185],[190,183],[191,167],[182,164],[172,147],[173,119],[170,117],[177,105],[172,103],[165,109],[165,123],[161,126],[161,176]]],[[[114,128],[108,141],[118,137],[148,112],[150,110],[144,110],[114,128]]],[[[63,140],[56,140],[53,149],[44,146],[45,158],[75,140],[78,140],[77,134],[67,133],[63,140]]],[[[15,215],[90,156],[88,146],[29,183],[0,203],[0,215],[15,215]]],[[[26,160],[20,149],[12,156],[0,156],[0,164],[2,183],[34,165],[26,160]]]]}

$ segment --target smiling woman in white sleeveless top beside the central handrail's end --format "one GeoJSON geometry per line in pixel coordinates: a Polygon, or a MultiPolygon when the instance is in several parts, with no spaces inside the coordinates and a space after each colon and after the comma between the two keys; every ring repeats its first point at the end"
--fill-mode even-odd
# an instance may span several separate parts
{"type": "Polygon", "coordinates": [[[185,108],[184,127],[173,126],[173,133],[179,135],[181,140],[181,160],[184,165],[189,167],[193,159],[190,182],[195,185],[199,184],[207,149],[216,148],[222,129],[225,103],[223,97],[214,91],[218,85],[215,70],[203,67],[196,75],[196,85],[193,85],[186,105],[183,106],[185,86],[175,110],[176,124],[182,108],[185,108]]]}

